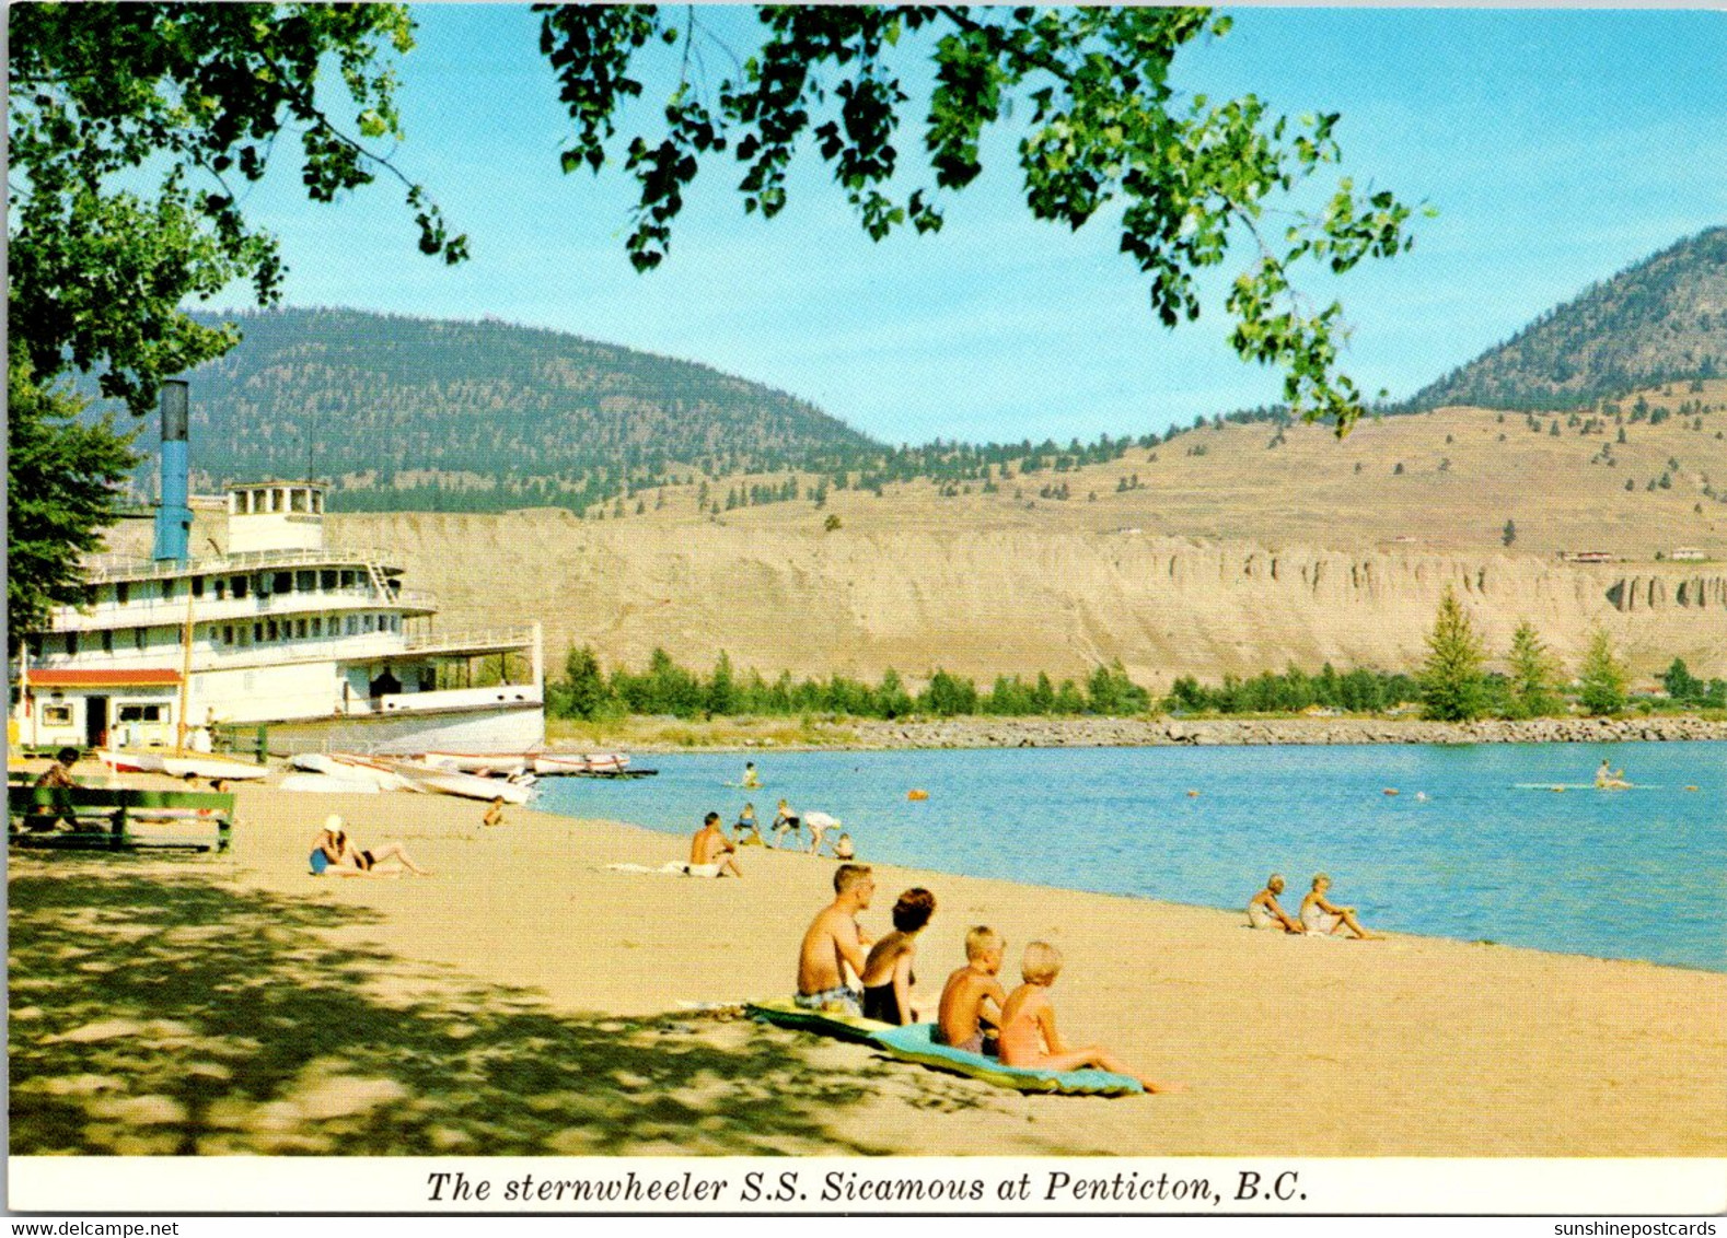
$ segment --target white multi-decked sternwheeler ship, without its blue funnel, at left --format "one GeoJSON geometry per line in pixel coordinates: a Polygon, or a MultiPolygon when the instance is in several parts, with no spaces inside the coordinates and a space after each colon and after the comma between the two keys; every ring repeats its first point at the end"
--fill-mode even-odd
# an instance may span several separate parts
{"type": "Polygon", "coordinates": [[[152,559],[95,559],[86,604],[28,637],[22,742],[174,746],[212,723],[268,723],[276,751],[544,742],[539,625],[440,630],[387,553],[325,547],[316,482],[225,499],[225,547],[188,553],[185,520],[152,559]]]}

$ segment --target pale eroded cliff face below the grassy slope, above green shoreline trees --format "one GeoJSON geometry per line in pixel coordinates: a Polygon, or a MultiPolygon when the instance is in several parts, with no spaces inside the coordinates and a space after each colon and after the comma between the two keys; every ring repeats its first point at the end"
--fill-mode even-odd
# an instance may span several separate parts
{"type": "Polygon", "coordinates": [[[1727,675],[1727,568],[1573,566],[1525,554],[1266,549],[1140,532],[872,532],[712,521],[580,521],[565,513],[337,516],[330,537],[401,558],[439,594],[440,627],[539,620],[556,666],[572,644],[642,666],[661,646],[708,668],[936,666],[993,679],[1083,675],[1119,658],[1142,684],[1297,665],[1414,668],[1447,585],[1497,665],[1530,620],[1573,670],[1594,625],[1648,675],[1672,658],[1727,675]]]}

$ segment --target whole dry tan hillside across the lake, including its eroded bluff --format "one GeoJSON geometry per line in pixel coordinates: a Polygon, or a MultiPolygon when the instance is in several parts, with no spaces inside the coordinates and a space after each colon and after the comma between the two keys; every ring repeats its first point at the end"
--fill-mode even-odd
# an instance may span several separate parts
{"type": "Polygon", "coordinates": [[[769,675],[988,679],[1121,658],[1166,685],[1292,661],[1413,666],[1451,585],[1496,654],[1528,618],[1575,665],[1599,623],[1644,675],[1673,656],[1724,675],[1727,504],[1705,489],[1727,489],[1727,383],[1644,402],[1675,411],[1629,421],[1625,444],[1611,418],[1604,433],[1559,418],[1554,437],[1553,418],[1535,432],[1521,414],[1444,409],[1342,442],[1302,426],[1268,447],[1273,426],[1205,428],[1155,461],[1135,451],[996,494],[905,483],[715,516],[675,487],[623,518],[404,513],[337,518],[335,534],[394,547],[451,620],[532,616],[554,658],[582,642],[637,666],[655,646],[693,666],[725,649],[769,675]],[[1710,411],[1677,414],[1699,402],[1710,411]],[[1135,475],[1138,489],[1117,489],[1135,475]],[[1052,483],[1071,497],[1038,497],[1052,483]],[[1710,561],[1656,561],[1679,546],[1710,561]],[[1561,549],[1623,561],[1568,565],[1561,549]]]}

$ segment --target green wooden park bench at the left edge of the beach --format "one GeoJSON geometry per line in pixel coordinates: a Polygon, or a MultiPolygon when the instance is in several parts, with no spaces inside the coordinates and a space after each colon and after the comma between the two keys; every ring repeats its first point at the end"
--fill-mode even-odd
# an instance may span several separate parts
{"type": "Polygon", "coordinates": [[[218,791],[7,787],[7,808],[12,846],[226,851],[233,831],[233,796],[218,791]]]}

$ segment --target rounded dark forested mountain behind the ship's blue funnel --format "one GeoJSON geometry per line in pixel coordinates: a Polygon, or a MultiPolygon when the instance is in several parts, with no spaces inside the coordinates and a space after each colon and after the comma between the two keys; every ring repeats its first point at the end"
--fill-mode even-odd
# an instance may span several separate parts
{"type": "Polygon", "coordinates": [[[192,375],[192,458],[206,485],[316,471],[349,478],[349,509],[582,508],[693,468],[770,471],[882,451],[786,392],[560,332],[356,309],[221,318],[245,338],[192,375]],[[397,489],[421,473],[437,477],[397,489]]]}

